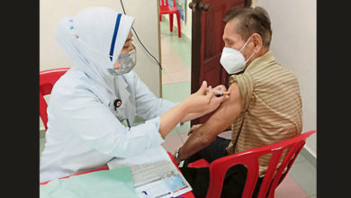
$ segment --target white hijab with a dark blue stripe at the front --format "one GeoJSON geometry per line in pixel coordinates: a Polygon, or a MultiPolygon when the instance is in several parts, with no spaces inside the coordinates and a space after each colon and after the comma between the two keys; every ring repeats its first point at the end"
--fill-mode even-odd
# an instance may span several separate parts
{"type": "Polygon", "coordinates": [[[108,69],[120,55],[133,22],[134,17],[111,8],[90,7],[62,19],[56,39],[75,67],[115,94],[114,77],[108,69]]]}

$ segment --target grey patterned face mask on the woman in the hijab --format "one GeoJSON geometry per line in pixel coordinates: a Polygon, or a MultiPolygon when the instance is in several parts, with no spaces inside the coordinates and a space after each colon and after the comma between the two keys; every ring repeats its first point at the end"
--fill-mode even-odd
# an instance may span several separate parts
{"type": "Polygon", "coordinates": [[[120,63],[120,68],[109,68],[108,71],[113,76],[127,74],[135,67],[136,64],[136,49],[130,50],[128,53],[121,54],[118,57],[118,62],[120,63]]]}

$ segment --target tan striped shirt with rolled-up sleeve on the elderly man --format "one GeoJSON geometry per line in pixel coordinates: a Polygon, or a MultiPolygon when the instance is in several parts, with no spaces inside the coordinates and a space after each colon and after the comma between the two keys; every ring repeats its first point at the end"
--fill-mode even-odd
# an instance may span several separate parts
{"type": "MultiPolygon", "coordinates": [[[[289,69],[275,61],[272,51],[253,60],[244,73],[230,76],[229,85],[234,82],[238,83],[242,112],[231,125],[229,154],[301,134],[299,83],[289,69]]],[[[265,175],[270,156],[259,158],[260,176],[265,175]]]]}

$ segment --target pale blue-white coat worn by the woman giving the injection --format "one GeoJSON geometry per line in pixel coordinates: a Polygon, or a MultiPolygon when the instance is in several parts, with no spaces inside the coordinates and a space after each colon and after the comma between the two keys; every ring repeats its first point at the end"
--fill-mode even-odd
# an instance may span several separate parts
{"type": "Polygon", "coordinates": [[[117,96],[97,95],[92,84],[75,67],[55,84],[49,98],[40,182],[106,166],[112,157],[130,157],[164,141],[158,132],[159,115],[175,103],[157,98],[134,71],[116,76],[121,99],[117,111],[113,106],[117,96]],[[146,121],[130,129],[116,118],[133,123],[136,114],[146,121]]]}

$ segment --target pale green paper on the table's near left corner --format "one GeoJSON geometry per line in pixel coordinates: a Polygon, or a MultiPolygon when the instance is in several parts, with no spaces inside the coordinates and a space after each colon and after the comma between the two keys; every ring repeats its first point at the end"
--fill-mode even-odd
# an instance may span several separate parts
{"type": "Polygon", "coordinates": [[[137,197],[130,175],[130,167],[101,170],[84,175],[56,179],[40,185],[40,198],[70,197],[137,197]]]}

